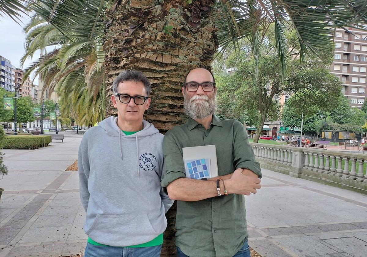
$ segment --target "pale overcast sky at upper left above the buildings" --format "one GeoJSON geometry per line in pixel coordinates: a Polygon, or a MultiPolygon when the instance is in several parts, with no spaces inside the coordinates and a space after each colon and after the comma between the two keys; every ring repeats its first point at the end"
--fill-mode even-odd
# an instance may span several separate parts
{"type": "MultiPolygon", "coordinates": [[[[25,70],[33,61],[40,57],[40,51],[33,55],[32,59],[27,59],[23,67],[20,66],[20,59],[24,55],[25,34],[22,27],[28,23],[26,18],[21,19],[17,24],[11,18],[0,17],[0,55],[11,61],[16,68],[25,70]]],[[[30,78],[33,79],[33,76],[30,78]]],[[[34,84],[38,84],[38,77],[34,80],[34,84]]]]}

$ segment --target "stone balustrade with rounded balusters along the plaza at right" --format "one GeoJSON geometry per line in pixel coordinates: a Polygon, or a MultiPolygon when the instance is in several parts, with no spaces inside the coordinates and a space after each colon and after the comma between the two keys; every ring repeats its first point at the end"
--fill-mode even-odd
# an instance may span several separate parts
{"type": "Polygon", "coordinates": [[[262,168],[367,194],[367,155],[286,145],[250,144],[262,168]]]}

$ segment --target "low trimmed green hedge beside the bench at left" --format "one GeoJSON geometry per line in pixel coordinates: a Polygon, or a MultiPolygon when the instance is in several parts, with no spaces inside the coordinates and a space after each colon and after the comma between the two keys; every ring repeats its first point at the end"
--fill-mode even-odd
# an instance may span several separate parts
{"type": "Polygon", "coordinates": [[[50,135],[8,135],[5,137],[4,149],[37,149],[50,143],[50,135]]]}

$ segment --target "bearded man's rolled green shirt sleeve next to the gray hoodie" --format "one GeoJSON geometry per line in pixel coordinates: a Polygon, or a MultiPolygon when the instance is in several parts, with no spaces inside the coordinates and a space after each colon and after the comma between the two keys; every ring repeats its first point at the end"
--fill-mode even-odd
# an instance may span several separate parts
{"type": "Polygon", "coordinates": [[[185,178],[185,166],[182,159],[182,148],[179,147],[177,142],[172,137],[170,131],[164,136],[163,139],[163,178],[161,180],[161,186],[163,191],[167,193],[167,186],[177,180],[178,178],[185,178]]]}

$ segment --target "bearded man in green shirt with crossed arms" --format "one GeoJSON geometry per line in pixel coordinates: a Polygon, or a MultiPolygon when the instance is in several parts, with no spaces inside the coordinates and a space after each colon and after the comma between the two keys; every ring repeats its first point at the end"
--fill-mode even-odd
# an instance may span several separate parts
{"type": "Polygon", "coordinates": [[[217,87],[210,71],[191,70],[182,94],[190,119],[164,137],[161,182],[178,200],[178,256],[250,257],[244,195],[261,188],[262,175],[246,130],[239,121],[214,114],[217,87]],[[203,145],[216,145],[219,177],[186,178],[182,148],[203,145]]]}

